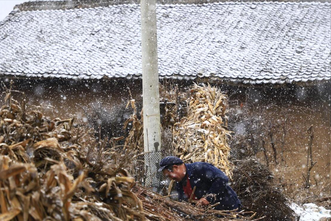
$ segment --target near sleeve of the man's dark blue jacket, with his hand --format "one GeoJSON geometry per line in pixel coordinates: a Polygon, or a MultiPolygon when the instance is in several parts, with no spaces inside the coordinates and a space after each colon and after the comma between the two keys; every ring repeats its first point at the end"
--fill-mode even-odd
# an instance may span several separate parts
{"type": "MultiPolygon", "coordinates": [[[[221,170],[208,163],[204,163],[201,167],[201,179],[205,183],[211,183],[211,187],[205,195],[216,194],[216,197],[217,194],[222,194],[225,191],[226,185],[229,182],[229,178],[221,170]]],[[[208,202],[214,202],[212,195],[205,197],[208,202]]]]}

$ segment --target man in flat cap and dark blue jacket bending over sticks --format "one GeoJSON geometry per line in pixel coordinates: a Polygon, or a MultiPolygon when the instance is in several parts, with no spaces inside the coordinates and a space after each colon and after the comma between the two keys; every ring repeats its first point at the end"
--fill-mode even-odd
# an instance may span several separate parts
{"type": "Polygon", "coordinates": [[[217,202],[214,209],[241,209],[237,194],[231,189],[227,176],[210,163],[186,163],[174,156],[167,156],[160,161],[163,175],[176,181],[178,200],[188,200],[194,187],[193,198],[196,206],[208,206],[217,202]]]}

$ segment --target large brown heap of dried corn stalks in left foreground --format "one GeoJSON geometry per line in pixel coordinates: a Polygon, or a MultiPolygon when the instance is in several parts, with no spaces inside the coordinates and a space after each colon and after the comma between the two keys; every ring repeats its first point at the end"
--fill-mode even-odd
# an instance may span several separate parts
{"type": "MultiPolygon", "coordinates": [[[[130,189],[131,150],[27,112],[6,88],[0,109],[0,220],[148,220],[130,189]],[[107,146],[107,148],[106,148],[107,146]]],[[[112,138],[111,142],[121,138],[112,138]]]]}

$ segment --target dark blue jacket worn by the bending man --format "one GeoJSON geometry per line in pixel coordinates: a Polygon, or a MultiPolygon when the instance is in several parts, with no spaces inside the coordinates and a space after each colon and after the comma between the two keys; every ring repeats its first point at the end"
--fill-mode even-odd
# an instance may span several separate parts
{"type": "MultiPolygon", "coordinates": [[[[237,194],[228,184],[229,179],[221,170],[204,162],[186,163],[185,166],[192,189],[196,187],[194,194],[198,199],[208,194],[214,195],[206,196],[206,199],[211,205],[220,202],[215,207],[218,210],[232,210],[241,206],[237,194]]],[[[175,188],[178,199],[187,200],[182,184],[176,183],[175,188]]]]}

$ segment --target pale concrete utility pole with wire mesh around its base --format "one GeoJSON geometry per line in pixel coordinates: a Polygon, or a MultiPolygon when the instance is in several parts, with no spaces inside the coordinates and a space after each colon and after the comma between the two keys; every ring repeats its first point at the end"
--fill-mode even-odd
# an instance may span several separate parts
{"type": "Polygon", "coordinates": [[[145,186],[154,184],[161,160],[160,94],[158,44],[156,33],[156,0],[141,0],[141,51],[143,74],[143,119],[145,154],[145,186]],[[152,180],[153,179],[153,180],[152,180]]]}

